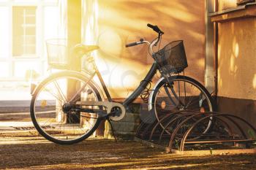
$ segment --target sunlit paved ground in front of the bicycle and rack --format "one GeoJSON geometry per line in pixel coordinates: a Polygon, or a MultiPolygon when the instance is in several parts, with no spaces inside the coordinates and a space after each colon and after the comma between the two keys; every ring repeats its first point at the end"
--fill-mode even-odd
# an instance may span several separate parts
{"type": "Polygon", "coordinates": [[[256,154],[185,156],[105,139],[53,144],[33,129],[20,128],[28,125],[29,117],[19,116],[24,117],[0,114],[0,169],[256,169],[256,154]]]}

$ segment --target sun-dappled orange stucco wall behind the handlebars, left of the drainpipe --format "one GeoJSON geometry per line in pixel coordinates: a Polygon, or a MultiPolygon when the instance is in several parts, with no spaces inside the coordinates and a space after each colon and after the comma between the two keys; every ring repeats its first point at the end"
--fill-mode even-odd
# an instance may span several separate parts
{"type": "Polygon", "coordinates": [[[205,63],[205,2],[162,0],[99,0],[99,71],[113,97],[123,98],[145,77],[153,61],[146,45],[125,48],[140,38],[157,36],[147,23],[165,32],[162,46],[184,39],[189,67],[186,74],[203,82],[205,63]],[[196,5],[195,5],[196,4],[196,5]]]}

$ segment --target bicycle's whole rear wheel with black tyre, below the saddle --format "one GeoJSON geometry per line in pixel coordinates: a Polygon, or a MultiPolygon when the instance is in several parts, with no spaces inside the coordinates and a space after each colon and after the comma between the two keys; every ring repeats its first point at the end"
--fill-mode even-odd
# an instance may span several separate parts
{"type": "Polygon", "coordinates": [[[64,112],[63,105],[69,103],[71,98],[73,104],[76,101],[102,100],[92,82],[78,72],[53,74],[34,91],[30,105],[31,119],[39,134],[51,142],[74,144],[91,136],[99,126],[96,113],[64,112]]]}

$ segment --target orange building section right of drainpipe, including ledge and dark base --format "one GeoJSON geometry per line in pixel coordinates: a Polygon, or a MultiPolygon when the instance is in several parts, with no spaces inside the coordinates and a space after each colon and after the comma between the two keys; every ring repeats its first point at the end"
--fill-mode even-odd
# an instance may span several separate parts
{"type": "Polygon", "coordinates": [[[215,1],[217,107],[256,123],[255,1],[215,1]]]}

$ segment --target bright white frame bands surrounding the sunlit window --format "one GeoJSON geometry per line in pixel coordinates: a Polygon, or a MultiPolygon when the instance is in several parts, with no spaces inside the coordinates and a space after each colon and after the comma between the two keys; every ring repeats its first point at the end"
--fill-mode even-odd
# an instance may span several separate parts
{"type": "Polygon", "coordinates": [[[1,77],[0,82],[24,82],[25,78],[15,77],[15,63],[18,61],[32,61],[41,63],[40,74],[42,76],[45,75],[46,70],[46,62],[47,58],[45,58],[45,45],[44,45],[44,8],[45,7],[58,7],[58,0],[55,1],[45,1],[45,0],[6,0],[0,1],[0,7],[8,7],[9,15],[7,16],[9,22],[9,39],[10,45],[8,49],[8,56],[7,58],[0,58],[0,62],[4,62],[8,64],[9,73],[8,77],[1,77]],[[34,56],[13,56],[12,55],[12,7],[15,6],[34,6],[37,7],[36,10],[36,54],[34,56]],[[43,43],[38,43],[43,42],[43,43]]]}

